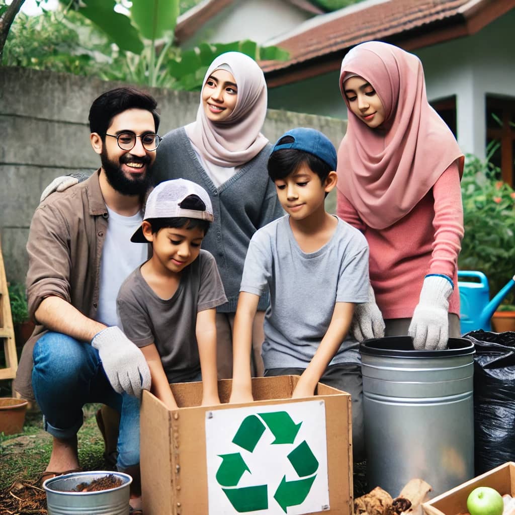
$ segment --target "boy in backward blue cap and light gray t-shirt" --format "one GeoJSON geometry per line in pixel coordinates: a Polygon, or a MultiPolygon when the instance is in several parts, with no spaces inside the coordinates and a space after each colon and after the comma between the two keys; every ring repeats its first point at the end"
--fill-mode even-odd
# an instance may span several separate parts
{"type": "Polygon", "coordinates": [[[265,376],[299,374],[294,398],[320,381],[352,395],[354,460],[363,455],[362,377],[358,343],[348,336],[354,305],[368,301],[368,245],[357,229],[325,211],[337,182],[336,150],[314,129],[284,134],[268,161],[287,215],[252,237],[234,323],[231,402],[252,400],[250,334],[270,291],[262,348],[265,376]]]}

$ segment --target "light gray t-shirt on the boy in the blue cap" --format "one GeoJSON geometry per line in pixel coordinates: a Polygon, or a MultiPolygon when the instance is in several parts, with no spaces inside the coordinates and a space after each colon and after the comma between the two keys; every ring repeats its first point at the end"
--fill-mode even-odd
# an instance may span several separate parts
{"type": "MultiPolygon", "coordinates": [[[[336,302],[368,301],[368,244],[338,219],[330,241],[303,252],[289,216],[259,229],[250,241],[240,291],[270,291],[262,348],[265,369],[306,368],[331,323],[336,302]]],[[[342,341],[330,365],[360,363],[358,343],[342,341]]]]}

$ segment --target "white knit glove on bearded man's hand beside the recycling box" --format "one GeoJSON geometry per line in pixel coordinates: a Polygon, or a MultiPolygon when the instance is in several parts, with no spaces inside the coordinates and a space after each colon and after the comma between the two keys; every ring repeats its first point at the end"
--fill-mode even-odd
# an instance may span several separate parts
{"type": "Polygon", "coordinates": [[[91,340],[97,349],[111,386],[138,399],[150,389],[150,370],[143,352],[116,325],[97,333],[91,340]]]}

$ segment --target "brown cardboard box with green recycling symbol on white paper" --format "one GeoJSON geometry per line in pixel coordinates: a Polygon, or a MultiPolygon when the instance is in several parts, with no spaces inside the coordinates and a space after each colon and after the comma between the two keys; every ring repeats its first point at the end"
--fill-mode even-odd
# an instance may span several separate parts
{"type": "Polygon", "coordinates": [[[145,515],[350,515],[350,394],[319,383],[314,397],[291,399],[298,379],[252,379],[255,401],[230,405],[232,381],[220,380],[211,407],[200,406],[201,383],[170,385],[173,411],[145,391],[145,515]]]}

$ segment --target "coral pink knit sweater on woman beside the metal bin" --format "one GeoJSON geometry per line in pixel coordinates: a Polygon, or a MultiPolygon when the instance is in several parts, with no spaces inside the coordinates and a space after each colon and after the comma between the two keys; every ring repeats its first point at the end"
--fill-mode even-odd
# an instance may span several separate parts
{"type": "Polygon", "coordinates": [[[456,163],[413,210],[386,229],[366,226],[339,190],[337,215],[367,238],[370,283],[383,318],[411,318],[428,273],[442,273],[453,280],[449,312],[459,315],[457,261],[464,229],[456,163]]]}

